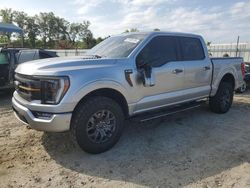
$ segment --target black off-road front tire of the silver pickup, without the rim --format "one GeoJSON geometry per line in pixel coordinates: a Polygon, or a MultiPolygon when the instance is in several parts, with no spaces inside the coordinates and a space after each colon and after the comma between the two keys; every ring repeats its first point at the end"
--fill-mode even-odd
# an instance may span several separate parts
{"type": "Polygon", "coordinates": [[[124,124],[124,114],[117,102],[107,97],[92,97],[81,103],[74,111],[71,121],[71,134],[74,141],[85,151],[92,154],[105,152],[112,148],[121,137],[124,124]],[[99,110],[109,110],[116,121],[115,130],[104,143],[94,143],[88,136],[87,123],[93,114],[99,110]]]}

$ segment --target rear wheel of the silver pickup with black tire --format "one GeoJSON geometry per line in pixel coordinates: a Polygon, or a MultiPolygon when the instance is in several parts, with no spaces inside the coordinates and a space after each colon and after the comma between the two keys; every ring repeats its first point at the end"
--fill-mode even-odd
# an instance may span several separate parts
{"type": "Polygon", "coordinates": [[[211,111],[219,114],[228,112],[232,106],[233,96],[233,84],[221,82],[216,95],[209,99],[211,111]]]}

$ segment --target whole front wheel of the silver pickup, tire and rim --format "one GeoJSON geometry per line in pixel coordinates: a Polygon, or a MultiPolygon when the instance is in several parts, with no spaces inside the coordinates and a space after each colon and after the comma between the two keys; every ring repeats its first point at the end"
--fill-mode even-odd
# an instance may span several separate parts
{"type": "Polygon", "coordinates": [[[84,151],[102,153],[119,140],[123,121],[119,104],[107,97],[93,97],[74,112],[71,133],[84,151]]]}

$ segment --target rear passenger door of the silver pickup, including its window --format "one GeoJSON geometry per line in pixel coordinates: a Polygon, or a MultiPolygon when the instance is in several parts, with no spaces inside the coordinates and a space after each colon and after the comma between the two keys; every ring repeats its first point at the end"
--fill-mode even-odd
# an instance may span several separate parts
{"type": "Polygon", "coordinates": [[[204,47],[199,38],[180,37],[182,61],[184,63],[184,87],[193,91],[186,98],[208,96],[211,90],[212,64],[205,57],[204,47]]]}

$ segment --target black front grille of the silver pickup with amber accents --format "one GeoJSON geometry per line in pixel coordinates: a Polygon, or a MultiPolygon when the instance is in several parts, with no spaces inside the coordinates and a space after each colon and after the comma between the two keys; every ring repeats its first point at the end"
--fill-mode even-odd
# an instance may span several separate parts
{"type": "Polygon", "coordinates": [[[15,89],[27,101],[41,99],[41,81],[32,76],[15,74],[15,89]]]}

